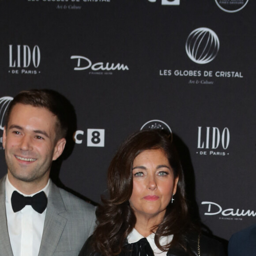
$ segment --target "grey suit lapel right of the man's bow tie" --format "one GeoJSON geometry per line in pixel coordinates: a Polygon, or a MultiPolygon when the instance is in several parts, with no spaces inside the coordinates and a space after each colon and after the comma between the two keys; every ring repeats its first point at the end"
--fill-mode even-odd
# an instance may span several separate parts
{"type": "Polygon", "coordinates": [[[64,206],[59,189],[51,181],[48,204],[45,215],[44,231],[38,256],[52,256],[56,250],[61,234],[67,222],[64,206]],[[60,216],[62,213],[63,216],[60,216]]]}

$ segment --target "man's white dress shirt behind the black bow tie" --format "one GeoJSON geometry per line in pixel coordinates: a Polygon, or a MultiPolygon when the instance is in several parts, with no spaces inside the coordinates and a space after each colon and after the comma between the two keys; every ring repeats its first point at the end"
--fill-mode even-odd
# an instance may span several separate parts
{"type": "MultiPolygon", "coordinates": [[[[44,191],[48,197],[50,182],[49,180],[45,188],[38,192],[44,191]]],[[[5,206],[13,256],[37,256],[41,245],[46,209],[40,214],[34,211],[31,205],[26,205],[21,211],[13,212],[11,195],[14,191],[23,196],[34,196],[38,193],[32,195],[23,194],[10,183],[7,175],[5,181],[5,206]]]]}

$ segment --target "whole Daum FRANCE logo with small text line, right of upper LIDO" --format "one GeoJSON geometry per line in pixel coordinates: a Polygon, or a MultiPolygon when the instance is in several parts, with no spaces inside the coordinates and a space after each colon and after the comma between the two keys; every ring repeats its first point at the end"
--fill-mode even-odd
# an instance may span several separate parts
{"type": "Polygon", "coordinates": [[[89,75],[113,75],[113,72],[129,70],[127,65],[121,63],[115,64],[111,62],[93,62],[87,57],[79,55],[72,55],[70,58],[72,60],[76,60],[74,70],[88,70],[89,75]]]}

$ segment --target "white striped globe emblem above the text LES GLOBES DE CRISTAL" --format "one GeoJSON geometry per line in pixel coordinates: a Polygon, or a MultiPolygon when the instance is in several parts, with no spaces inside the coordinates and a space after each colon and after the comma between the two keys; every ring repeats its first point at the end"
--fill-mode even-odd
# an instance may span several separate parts
{"type": "Polygon", "coordinates": [[[206,64],[217,56],[219,40],[217,34],[207,28],[200,27],[193,30],[186,41],[188,57],[198,63],[206,64]]]}

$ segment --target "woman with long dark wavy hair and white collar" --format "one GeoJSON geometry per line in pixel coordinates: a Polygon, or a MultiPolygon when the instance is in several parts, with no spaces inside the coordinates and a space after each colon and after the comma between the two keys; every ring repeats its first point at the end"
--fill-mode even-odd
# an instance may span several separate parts
{"type": "Polygon", "coordinates": [[[79,256],[222,256],[222,245],[192,225],[177,151],[160,131],[140,131],[108,169],[109,199],[79,256]]]}

